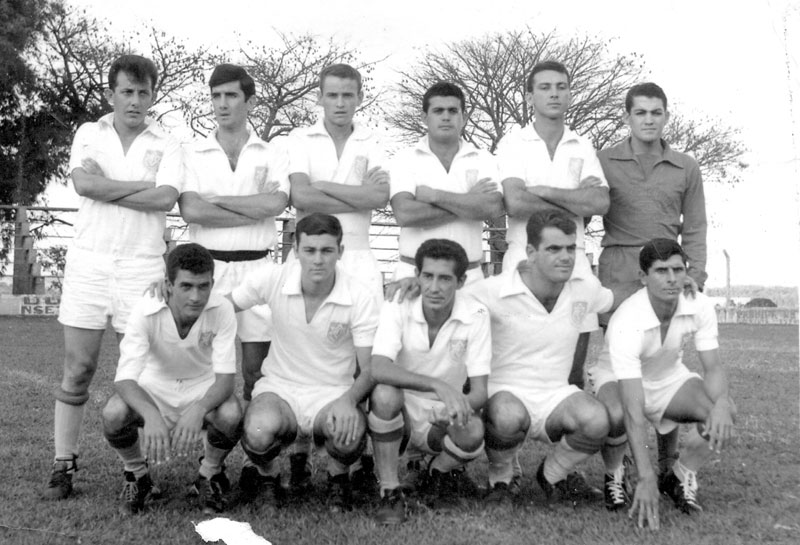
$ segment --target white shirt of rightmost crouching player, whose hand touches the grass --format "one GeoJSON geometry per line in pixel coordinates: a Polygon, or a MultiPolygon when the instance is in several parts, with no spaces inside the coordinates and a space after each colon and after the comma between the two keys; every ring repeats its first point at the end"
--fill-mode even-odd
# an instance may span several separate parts
{"type": "Polygon", "coordinates": [[[612,369],[617,380],[658,382],[683,365],[683,347],[692,337],[699,352],[719,347],[717,314],[708,297],[698,293],[689,299],[681,293],[662,343],[660,321],[642,288],[611,317],[597,365],[612,369]]]}

